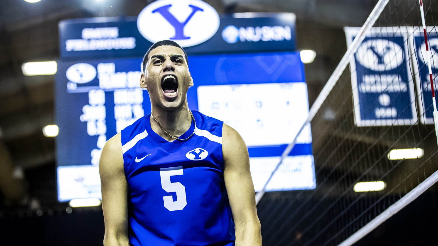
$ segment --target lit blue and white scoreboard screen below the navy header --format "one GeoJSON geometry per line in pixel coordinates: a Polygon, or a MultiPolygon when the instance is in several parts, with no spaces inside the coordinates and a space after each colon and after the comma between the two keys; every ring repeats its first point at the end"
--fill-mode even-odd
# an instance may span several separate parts
{"type": "MultiPolygon", "coordinates": [[[[191,110],[220,119],[247,144],[254,188],[267,181],[309,113],[299,52],[189,56],[191,110]]],[[[56,74],[58,200],[101,198],[106,141],[151,111],[141,58],[60,61],[56,74]]],[[[310,125],[267,191],[316,187],[310,125]]]]}

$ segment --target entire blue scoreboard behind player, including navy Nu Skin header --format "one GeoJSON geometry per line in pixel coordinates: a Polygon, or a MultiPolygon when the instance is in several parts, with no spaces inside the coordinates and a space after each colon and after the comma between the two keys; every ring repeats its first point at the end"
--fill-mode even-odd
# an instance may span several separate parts
{"type": "MultiPolygon", "coordinates": [[[[61,202],[101,198],[99,158],[103,146],[151,111],[148,91],[139,87],[140,57],[148,41],[133,31],[132,22],[130,18],[119,22],[111,18],[60,23],[63,57],[56,74],[55,118],[59,126],[57,182],[61,202]],[[132,37],[137,46],[91,50],[89,45],[100,42],[94,40],[96,37],[114,39],[114,44],[132,37]],[[74,46],[72,40],[76,40],[74,46]],[[79,44],[88,46],[79,49],[79,44]],[[145,47],[140,49],[140,45],[145,47]],[[71,53],[76,50],[78,53],[71,53]],[[124,53],[129,58],[123,57],[124,53]]],[[[194,80],[187,92],[189,108],[220,119],[240,133],[248,147],[256,191],[262,189],[309,113],[304,64],[299,52],[293,51],[294,26],[293,14],[221,17],[219,31],[211,39],[186,49],[194,80]],[[258,39],[250,35],[262,29],[272,35],[281,29],[283,36],[263,39],[263,34],[258,39]],[[238,30],[237,37],[232,35],[233,30],[238,30]]],[[[316,187],[311,142],[308,125],[267,191],[316,187]]]]}

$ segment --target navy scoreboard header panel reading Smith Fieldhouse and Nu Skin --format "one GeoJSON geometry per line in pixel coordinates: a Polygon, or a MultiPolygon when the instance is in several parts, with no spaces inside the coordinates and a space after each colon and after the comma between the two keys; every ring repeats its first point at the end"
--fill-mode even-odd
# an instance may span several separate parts
{"type": "MultiPolygon", "coordinates": [[[[64,20],[60,21],[59,33],[62,59],[141,57],[152,45],[139,32],[136,17],[64,20]]],[[[295,48],[294,14],[242,13],[223,15],[219,29],[210,39],[184,49],[188,54],[208,54],[295,48]]]]}

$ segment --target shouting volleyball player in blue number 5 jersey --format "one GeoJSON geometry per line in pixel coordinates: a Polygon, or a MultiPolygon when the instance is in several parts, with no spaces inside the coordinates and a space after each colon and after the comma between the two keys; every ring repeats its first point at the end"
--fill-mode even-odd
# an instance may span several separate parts
{"type": "Polygon", "coordinates": [[[100,158],[104,245],[261,246],[247,147],[233,128],[188,108],[184,49],[153,44],[143,71],[152,112],[100,158]]]}

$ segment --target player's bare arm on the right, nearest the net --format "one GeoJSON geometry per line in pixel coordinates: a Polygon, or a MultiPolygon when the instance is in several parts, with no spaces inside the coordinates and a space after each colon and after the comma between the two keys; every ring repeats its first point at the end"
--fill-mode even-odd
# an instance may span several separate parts
{"type": "Polygon", "coordinates": [[[260,221],[247,146],[236,130],[223,124],[224,179],[236,227],[236,246],[261,246],[260,221]]]}

